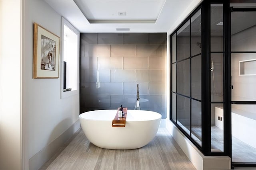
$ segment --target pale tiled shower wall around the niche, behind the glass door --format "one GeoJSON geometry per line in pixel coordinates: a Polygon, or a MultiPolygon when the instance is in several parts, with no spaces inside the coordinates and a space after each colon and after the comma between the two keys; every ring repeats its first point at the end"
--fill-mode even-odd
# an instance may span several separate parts
{"type": "MultiPolygon", "coordinates": [[[[232,35],[232,51],[256,51],[256,26],[232,35]]],[[[239,76],[239,61],[256,59],[255,53],[232,54],[232,100],[256,100],[256,76],[239,76]]],[[[256,66],[254,66],[255,68],[256,66]]],[[[236,109],[242,109],[256,114],[256,105],[232,105],[236,109]]]]}

